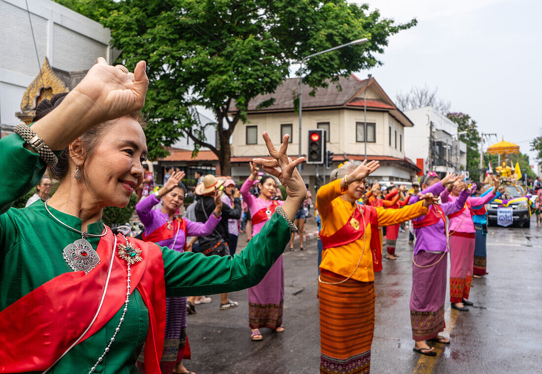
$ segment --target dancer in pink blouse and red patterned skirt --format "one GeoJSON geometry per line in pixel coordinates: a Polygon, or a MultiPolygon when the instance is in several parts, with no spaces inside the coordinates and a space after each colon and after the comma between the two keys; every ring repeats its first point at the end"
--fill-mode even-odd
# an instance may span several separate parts
{"type": "MultiPolygon", "coordinates": [[[[459,196],[458,182],[453,183],[441,193],[442,202],[455,201],[459,196]]],[[[461,311],[468,311],[465,305],[473,305],[468,301],[470,284],[473,280],[475,231],[470,207],[484,205],[491,201],[500,186],[495,179],[493,191],[486,196],[475,198],[469,196],[467,202],[459,212],[448,215],[449,242],[450,242],[450,303],[451,307],[461,311]]]]}

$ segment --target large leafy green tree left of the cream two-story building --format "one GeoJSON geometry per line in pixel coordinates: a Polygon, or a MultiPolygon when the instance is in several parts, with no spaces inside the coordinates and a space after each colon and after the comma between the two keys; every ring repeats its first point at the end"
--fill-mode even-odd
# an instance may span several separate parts
{"type": "MultiPolygon", "coordinates": [[[[118,62],[148,63],[144,110],[150,157],[166,154],[184,133],[214,152],[230,173],[230,136],[246,120],[251,99],[273,93],[302,57],[359,38],[369,42],[307,61],[298,70],[313,89],[339,76],[381,64],[390,35],[416,24],[383,18],[366,4],[346,0],[56,0],[111,29],[118,62]],[[195,106],[214,111],[216,123],[199,123],[195,106]],[[204,137],[217,132],[217,144],[204,137]]],[[[273,99],[264,103],[268,106],[273,99]]],[[[264,107],[262,106],[262,107],[264,107]]]]}

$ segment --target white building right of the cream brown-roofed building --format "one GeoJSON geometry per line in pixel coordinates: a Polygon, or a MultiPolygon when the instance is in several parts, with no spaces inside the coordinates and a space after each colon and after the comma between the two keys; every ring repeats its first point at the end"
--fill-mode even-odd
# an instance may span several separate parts
{"type": "Polygon", "coordinates": [[[457,123],[433,107],[405,111],[414,127],[405,128],[405,155],[416,160],[420,175],[464,172],[467,145],[458,140],[457,123]]]}

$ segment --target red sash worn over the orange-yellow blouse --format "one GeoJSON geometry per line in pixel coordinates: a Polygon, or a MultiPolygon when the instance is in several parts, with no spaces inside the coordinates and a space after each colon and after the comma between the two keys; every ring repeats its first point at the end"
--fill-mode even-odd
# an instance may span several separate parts
{"type": "Polygon", "coordinates": [[[340,247],[345,244],[349,244],[353,241],[359,240],[363,237],[365,233],[365,228],[363,226],[363,217],[365,222],[369,221],[371,224],[371,253],[373,258],[373,271],[378,272],[382,270],[382,253],[380,253],[380,233],[378,231],[378,215],[374,207],[364,205],[363,208],[359,205],[356,206],[356,211],[349,218],[346,224],[339,228],[335,233],[326,237],[321,234],[320,231],[320,240],[322,241],[322,246],[324,250],[326,248],[340,247]],[[362,212],[363,209],[363,212],[362,212]],[[358,229],[352,226],[353,220],[357,221],[357,224],[354,226],[359,226],[358,229]]]}

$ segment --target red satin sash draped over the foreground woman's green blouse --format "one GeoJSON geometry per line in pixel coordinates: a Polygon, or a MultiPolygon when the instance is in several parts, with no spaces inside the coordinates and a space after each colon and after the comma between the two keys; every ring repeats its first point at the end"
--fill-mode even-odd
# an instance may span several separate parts
{"type": "MultiPolygon", "coordinates": [[[[117,244],[124,243],[121,235],[117,240],[117,244]]],[[[160,373],[166,317],[162,251],[152,243],[127,240],[143,251],[143,260],[131,265],[130,292],[137,288],[149,309],[145,366],[147,372],[160,373]]],[[[82,271],[60,274],[0,312],[1,373],[46,370],[81,336],[98,310],[113,243],[113,234],[108,231],[96,248],[100,264],[88,274],[82,271]]],[[[100,313],[79,343],[101,329],[124,305],[126,261],[120,259],[117,252],[115,248],[100,313]]],[[[114,352],[108,354],[114,355],[114,352]]]]}

